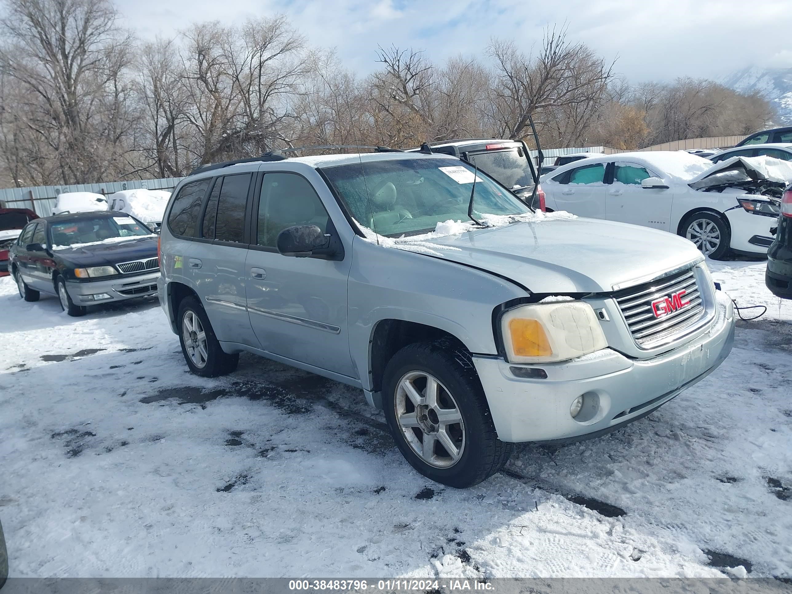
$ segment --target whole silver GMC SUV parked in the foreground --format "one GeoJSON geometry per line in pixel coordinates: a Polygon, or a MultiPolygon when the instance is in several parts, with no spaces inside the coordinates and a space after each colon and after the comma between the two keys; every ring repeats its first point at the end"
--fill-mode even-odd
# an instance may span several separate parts
{"type": "Polygon", "coordinates": [[[687,239],[532,211],[445,154],[205,166],[160,235],[160,303],[193,373],[253,352],[359,387],[409,463],[466,487],[516,442],[611,432],[732,348],[687,239]]]}

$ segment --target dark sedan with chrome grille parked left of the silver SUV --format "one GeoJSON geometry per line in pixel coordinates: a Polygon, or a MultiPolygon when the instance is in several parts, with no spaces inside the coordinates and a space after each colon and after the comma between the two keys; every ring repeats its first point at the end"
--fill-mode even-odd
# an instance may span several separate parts
{"type": "Polygon", "coordinates": [[[125,212],[82,212],[29,223],[11,246],[19,296],[57,295],[69,315],[157,292],[157,236],[125,212]]]}

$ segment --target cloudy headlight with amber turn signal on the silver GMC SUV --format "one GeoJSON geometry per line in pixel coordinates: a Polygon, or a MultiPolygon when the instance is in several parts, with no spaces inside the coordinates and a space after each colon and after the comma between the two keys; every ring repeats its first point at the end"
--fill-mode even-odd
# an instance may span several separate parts
{"type": "Polygon", "coordinates": [[[508,310],[501,317],[501,332],[511,363],[565,361],[607,346],[594,310],[582,301],[508,310]]]}

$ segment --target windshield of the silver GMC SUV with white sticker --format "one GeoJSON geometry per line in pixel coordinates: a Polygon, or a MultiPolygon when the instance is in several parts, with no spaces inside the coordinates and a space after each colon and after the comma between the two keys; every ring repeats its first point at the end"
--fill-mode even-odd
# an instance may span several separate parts
{"type": "MultiPolygon", "coordinates": [[[[431,231],[437,223],[470,220],[474,168],[456,158],[406,158],[322,169],[352,217],[386,237],[431,231]]],[[[478,171],[474,216],[531,212],[516,196],[478,171]]]]}

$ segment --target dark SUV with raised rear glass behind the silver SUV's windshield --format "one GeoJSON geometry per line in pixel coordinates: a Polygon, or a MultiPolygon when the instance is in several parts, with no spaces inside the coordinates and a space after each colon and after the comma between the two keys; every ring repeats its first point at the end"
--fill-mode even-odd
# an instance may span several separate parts
{"type": "Polygon", "coordinates": [[[459,139],[429,143],[428,147],[432,153],[453,154],[469,162],[510,188],[531,208],[545,210],[544,192],[538,185],[539,176],[525,143],[504,139],[459,139]]]}

